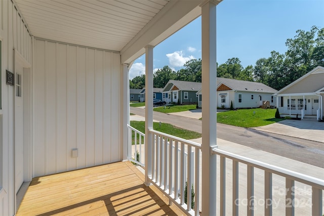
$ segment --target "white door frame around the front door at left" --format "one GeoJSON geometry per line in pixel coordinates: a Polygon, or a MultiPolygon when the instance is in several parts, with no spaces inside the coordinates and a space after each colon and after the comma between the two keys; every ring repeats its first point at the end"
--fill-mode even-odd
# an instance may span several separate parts
{"type": "MultiPolygon", "coordinates": [[[[14,77],[17,76],[16,71],[16,65],[21,65],[23,68],[23,80],[22,80],[22,94],[23,94],[23,178],[24,182],[30,182],[32,179],[32,102],[31,102],[31,77],[32,77],[32,71],[31,71],[31,64],[29,64],[26,59],[16,50],[14,49],[14,77]],[[28,128],[28,133],[25,132],[25,128],[28,128]]],[[[14,107],[15,107],[15,96],[16,96],[16,86],[14,86],[14,94],[13,94],[13,100],[14,100],[14,107]]],[[[14,109],[15,110],[15,109],[14,109]]],[[[13,126],[15,128],[15,111],[14,111],[14,121],[13,126]]],[[[14,173],[14,191],[15,191],[15,212],[17,212],[17,194],[16,194],[16,176],[15,176],[15,130],[13,132],[14,137],[14,149],[13,149],[13,173],[14,173]]]]}

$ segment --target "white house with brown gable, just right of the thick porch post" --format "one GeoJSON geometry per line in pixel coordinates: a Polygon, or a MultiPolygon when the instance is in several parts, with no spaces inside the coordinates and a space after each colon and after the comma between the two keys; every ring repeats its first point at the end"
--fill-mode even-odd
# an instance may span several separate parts
{"type": "MultiPolygon", "coordinates": [[[[217,106],[229,108],[274,107],[277,91],[261,82],[252,82],[217,77],[217,106]]],[[[201,107],[201,90],[197,92],[198,106],[201,107]]]]}

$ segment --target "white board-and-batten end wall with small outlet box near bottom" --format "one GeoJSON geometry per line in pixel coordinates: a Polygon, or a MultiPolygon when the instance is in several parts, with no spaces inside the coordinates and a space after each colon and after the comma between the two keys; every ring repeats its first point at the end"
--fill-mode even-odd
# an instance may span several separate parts
{"type": "Polygon", "coordinates": [[[33,55],[33,176],[121,160],[119,53],[35,38],[33,55]]]}

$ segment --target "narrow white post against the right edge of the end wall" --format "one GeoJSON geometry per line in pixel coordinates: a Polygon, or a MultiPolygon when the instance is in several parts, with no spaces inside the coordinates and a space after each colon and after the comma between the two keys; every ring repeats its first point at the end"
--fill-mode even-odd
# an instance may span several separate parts
{"type": "Polygon", "coordinates": [[[130,124],[130,80],[128,64],[122,65],[123,70],[123,160],[128,157],[128,126],[130,124]]]}

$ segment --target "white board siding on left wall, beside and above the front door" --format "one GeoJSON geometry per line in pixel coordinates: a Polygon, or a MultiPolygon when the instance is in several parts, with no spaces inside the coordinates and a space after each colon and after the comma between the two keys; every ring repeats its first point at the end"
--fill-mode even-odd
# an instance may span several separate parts
{"type": "Polygon", "coordinates": [[[14,87],[6,84],[6,70],[14,73],[14,50],[31,64],[31,35],[12,1],[0,1],[0,215],[15,214],[14,87]]]}

